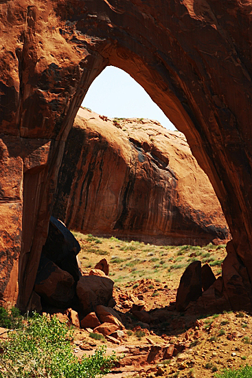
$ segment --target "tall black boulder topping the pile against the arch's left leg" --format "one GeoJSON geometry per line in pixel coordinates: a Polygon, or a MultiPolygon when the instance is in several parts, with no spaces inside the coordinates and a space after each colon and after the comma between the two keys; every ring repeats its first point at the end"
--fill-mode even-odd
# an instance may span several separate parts
{"type": "Polygon", "coordinates": [[[78,281],[81,274],[76,256],[79,252],[80,244],[73,234],[67,230],[64,223],[51,216],[47,240],[42,253],[60,269],[68,271],[74,280],[78,281]]]}

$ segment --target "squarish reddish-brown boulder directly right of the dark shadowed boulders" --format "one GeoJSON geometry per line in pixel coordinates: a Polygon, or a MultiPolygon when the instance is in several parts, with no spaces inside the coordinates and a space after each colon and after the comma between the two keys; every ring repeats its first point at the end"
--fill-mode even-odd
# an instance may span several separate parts
{"type": "Polygon", "coordinates": [[[77,283],[76,293],[83,315],[94,311],[98,304],[106,306],[112,298],[113,285],[113,280],[107,277],[81,277],[77,283]]]}

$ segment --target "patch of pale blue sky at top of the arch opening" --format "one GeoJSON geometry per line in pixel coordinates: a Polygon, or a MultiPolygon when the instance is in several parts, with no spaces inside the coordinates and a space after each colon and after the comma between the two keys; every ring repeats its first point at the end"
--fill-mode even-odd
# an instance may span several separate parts
{"type": "Polygon", "coordinates": [[[175,129],[144,88],[113,66],[106,67],[93,81],[82,106],[111,118],[149,118],[158,120],[167,129],[175,129]]]}

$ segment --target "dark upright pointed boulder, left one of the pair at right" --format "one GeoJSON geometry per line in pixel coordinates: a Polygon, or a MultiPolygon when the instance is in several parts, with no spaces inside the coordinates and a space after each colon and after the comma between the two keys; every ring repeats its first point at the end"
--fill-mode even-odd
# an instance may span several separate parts
{"type": "Polygon", "coordinates": [[[176,293],[176,310],[185,311],[191,301],[202,295],[201,261],[194,261],[185,269],[176,293]]]}

